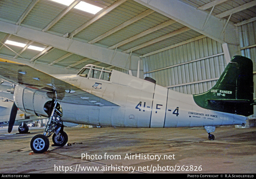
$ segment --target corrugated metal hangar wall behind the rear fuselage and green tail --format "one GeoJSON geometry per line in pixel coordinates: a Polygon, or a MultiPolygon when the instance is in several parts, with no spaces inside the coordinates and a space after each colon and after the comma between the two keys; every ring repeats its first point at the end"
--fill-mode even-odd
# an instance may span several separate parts
{"type": "MultiPolygon", "coordinates": [[[[253,61],[254,90],[255,29],[255,21],[238,26],[241,55],[253,61]]],[[[211,89],[226,66],[222,45],[208,37],[143,58],[144,77],[151,77],[158,85],[187,94],[198,94],[211,89]]],[[[254,99],[255,95],[254,92],[254,99]]]]}

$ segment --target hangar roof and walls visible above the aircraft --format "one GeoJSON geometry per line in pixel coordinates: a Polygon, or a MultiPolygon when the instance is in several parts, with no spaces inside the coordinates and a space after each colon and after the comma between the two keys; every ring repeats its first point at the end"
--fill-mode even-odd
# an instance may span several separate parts
{"type": "MultiPolygon", "coordinates": [[[[214,86],[232,56],[242,55],[253,61],[256,99],[255,5],[255,0],[0,0],[0,58],[47,74],[75,74],[94,64],[198,94],[214,86]],[[95,11],[84,9],[85,3],[95,11]]],[[[1,91],[8,88],[3,84],[1,91]]]]}

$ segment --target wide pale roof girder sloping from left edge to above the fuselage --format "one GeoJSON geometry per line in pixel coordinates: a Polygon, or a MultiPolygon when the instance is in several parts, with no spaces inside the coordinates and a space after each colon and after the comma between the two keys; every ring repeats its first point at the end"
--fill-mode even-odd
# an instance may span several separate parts
{"type": "MultiPolygon", "coordinates": [[[[114,65],[124,69],[137,70],[137,64],[140,60],[140,57],[138,56],[122,53],[119,51],[115,52],[114,50],[104,47],[88,44],[65,37],[60,37],[58,35],[30,29],[27,27],[20,26],[18,31],[17,28],[17,25],[0,21],[1,32],[13,34],[31,41],[46,44],[49,45],[49,47],[55,47],[57,49],[78,54],[109,65],[114,65]],[[126,62],[130,61],[130,59],[131,63],[127,64],[126,62]]],[[[40,53],[37,56],[39,57],[40,53]]],[[[34,59],[36,59],[36,57],[30,59],[30,61],[33,61],[34,59]]]]}

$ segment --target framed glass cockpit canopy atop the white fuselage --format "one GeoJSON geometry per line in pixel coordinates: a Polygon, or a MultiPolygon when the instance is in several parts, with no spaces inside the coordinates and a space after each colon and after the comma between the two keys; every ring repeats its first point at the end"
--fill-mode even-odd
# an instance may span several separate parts
{"type": "Polygon", "coordinates": [[[104,68],[96,65],[86,65],[77,75],[85,78],[95,78],[110,81],[112,69],[104,68]]]}

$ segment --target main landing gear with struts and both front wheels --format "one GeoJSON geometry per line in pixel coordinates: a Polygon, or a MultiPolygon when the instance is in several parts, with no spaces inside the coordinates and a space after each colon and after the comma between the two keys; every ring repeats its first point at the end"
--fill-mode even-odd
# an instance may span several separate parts
{"type": "Polygon", "coordinates": [[[63,123],[60,119],[62,110],[57,100],[46,103],[45,109],[49,111],[49,121],[44,130],[44,134],[34,136],[30,141],[30,147],[34,153],[43,153],[49,148],[49,137],[55,146],[64,146],[68,142],[68,135],[63,131],[63,123]]]}

